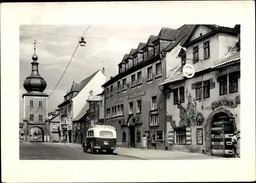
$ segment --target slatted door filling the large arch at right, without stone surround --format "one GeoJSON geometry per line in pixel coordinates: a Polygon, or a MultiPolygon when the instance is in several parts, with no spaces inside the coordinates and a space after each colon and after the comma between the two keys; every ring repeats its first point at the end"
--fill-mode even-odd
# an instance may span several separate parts
{"type": "Polygon", "coordinates": [[[229,116],[225,113],[217,114],[212,120],[211,127],[211,155],[229,157],[232,156],[231,138],[234,126],[229,116]]]}

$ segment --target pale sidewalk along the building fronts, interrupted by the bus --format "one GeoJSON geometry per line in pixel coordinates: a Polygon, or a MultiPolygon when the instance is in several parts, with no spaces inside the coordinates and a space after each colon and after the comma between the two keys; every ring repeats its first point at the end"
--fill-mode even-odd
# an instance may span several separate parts
{"type": "MultiPolygon", "coordinates": [[[[50,143],[59,146],[73,147],[77,149],[83,149],[81,144],[72,144],[72,143],[50,143]]],[[[208,156],[199,153],[189,153],[189,152],[181,152],[181,151],[169,151],[169,150],[155,150],[155,149],[135,149],[135,148],[122,148],[117,147],[115,150],[116,155],[126,156],[126,157],[134,157],[137,159],[145,159],[145,160],[192,160],[192,159],[233,159],[233,158],[223,158],[216,156],[208,156]]]]}

